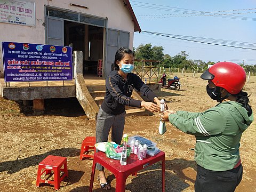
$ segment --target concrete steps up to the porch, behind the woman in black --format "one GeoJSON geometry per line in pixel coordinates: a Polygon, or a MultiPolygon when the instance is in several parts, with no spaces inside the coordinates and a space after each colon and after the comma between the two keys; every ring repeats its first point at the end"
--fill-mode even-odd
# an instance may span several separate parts
{"type": "MultiPolygon", "coordinates": [[[[106,87],[105,85],[87,85],[87,89],[89,90],[92,98],[94,99],[95,103],[100,107],[101,103],[104,100],[106,94],[106,87]]],[[[137,98],[138,100],[142,100],[140,95],[133,91],[132,98],[137,98]]],[[[145,109],[140,109],[137,107],[125,107],[126,115],[146,115],[145,109]]]]}

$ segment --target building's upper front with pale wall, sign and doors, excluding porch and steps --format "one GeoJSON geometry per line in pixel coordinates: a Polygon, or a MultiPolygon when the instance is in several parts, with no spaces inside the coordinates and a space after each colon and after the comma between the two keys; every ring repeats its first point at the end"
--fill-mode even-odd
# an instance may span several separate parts
{"type": "MultiPolygon", "coordinates": [[[[116,50],[133,47],[141,31],[129,0],[0,0],[0,41],[72,46],[83,52],[83,73],[103,76],[113,68],[116,50]]],[[[2,47],[0,77],[3,78],[2,47]]]]}

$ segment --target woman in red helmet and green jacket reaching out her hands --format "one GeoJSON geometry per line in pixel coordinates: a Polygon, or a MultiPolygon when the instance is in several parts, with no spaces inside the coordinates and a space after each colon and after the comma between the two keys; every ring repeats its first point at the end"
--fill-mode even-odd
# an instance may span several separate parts
{"type": "Polygon", "coordinates": [[[218,62],[201,78],[208,80],[206,92],[220,102],[217,106],[202,113],[166,110],[161,117],[196,137],[195,191],[235,191],[243,174],[239,141],[253,121],[249,98],[242,91],[246,73],[235,63],[218,62]]]}

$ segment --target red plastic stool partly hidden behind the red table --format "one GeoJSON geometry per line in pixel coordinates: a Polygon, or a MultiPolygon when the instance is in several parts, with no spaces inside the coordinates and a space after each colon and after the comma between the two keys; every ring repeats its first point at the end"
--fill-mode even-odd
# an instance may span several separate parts
{"type": "Polygon", "coordinates": [[[94,149],[94,153],[96,153],[96,149],[94,147],[96,143],[95,137],[86,137],[82,142],[81,152],[80,152],[80,160],[83,160],[83,157],[93,158],[93,155],[89,155],[89,149],[94,149]]]}

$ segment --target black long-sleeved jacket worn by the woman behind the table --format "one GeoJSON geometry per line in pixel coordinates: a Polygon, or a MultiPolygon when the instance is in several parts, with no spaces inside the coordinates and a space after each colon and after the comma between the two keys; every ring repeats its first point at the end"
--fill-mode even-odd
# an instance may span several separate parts
{"type": "Polygon", "coordinates": [[[101,109],[107,114],[118,115],[125,111],[125,106],[140,108],[141,101],[131,98],[133,89],[140,91],[152,102],[156,97],[155,93],[136,74],[129,73],[125,81],[118,71],[111,71],[106,78],[106,95],[101,109]]]}

